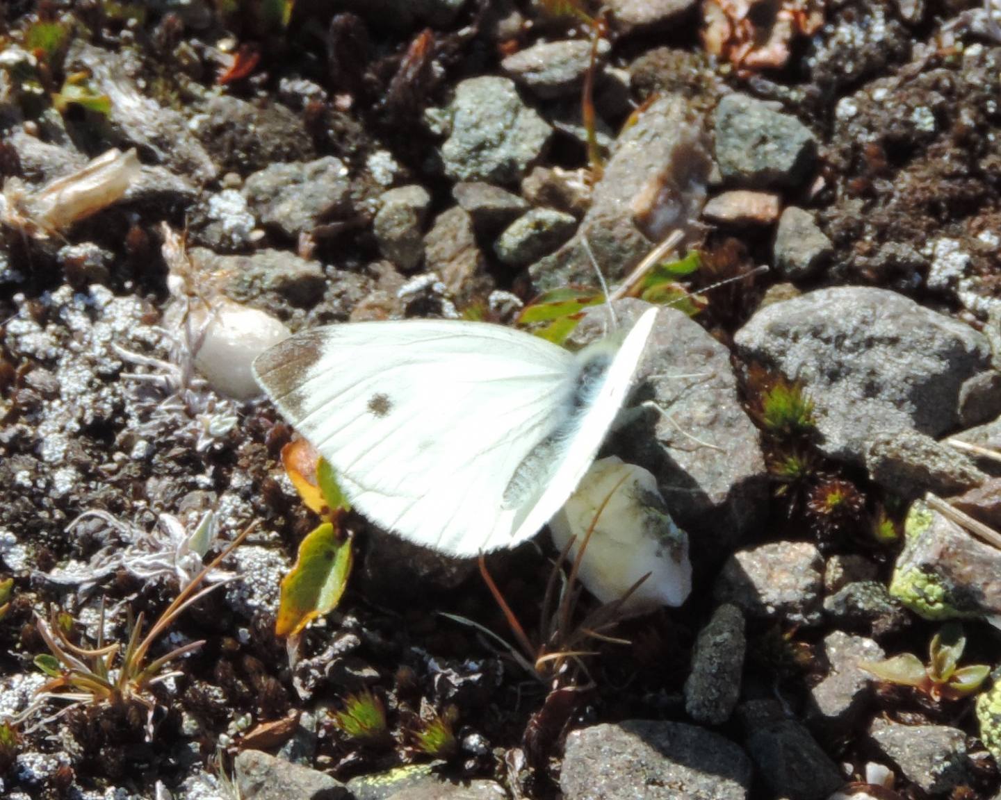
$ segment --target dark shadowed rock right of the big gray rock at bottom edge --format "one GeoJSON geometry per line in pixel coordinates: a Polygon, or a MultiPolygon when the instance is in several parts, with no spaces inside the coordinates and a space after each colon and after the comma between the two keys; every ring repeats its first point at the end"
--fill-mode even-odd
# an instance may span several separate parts
{"type": "Polygon", "coordinates": [[[844,780],[837,765],[802,724],[783,716],[774,700],[741,706],[745,747],[775,797],[827,800],[844,780]]]}

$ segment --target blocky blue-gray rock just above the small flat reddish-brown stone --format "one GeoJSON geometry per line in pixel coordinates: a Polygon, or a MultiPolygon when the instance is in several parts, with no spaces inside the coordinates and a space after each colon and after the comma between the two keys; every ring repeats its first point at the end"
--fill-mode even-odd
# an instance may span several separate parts
{"type": "Polygon", "coordinates": [[[813,167],[817,141],[796,117],[746,94],[720,100],[716,160],[727,180],[756,189],[796,187],[813,167]]]}

